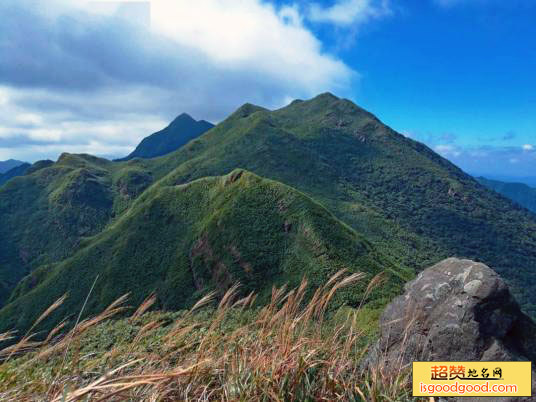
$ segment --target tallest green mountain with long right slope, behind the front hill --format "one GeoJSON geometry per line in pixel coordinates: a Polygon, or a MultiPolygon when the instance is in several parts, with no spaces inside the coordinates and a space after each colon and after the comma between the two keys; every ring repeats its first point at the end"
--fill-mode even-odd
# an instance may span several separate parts
{"type": "Polygon", "coordinates": [[[269,111],[246,104],[178,151],[157,177],[184,183],[235,167],[303,191],[397,263],[480,260],[536,313],[536,219],[425,145],[331,94],[269,111]]]}

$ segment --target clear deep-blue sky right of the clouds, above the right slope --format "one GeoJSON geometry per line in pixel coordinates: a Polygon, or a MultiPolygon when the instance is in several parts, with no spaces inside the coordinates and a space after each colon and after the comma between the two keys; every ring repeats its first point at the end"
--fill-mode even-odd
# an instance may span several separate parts
{"type": "Polygon", "coordinates": [[[342,53],[362,76],[353,98],[468,170],[536,175],[527,158],[536,142],[536,3],[458,3],[405,2],[358,34],[342,53]]]}

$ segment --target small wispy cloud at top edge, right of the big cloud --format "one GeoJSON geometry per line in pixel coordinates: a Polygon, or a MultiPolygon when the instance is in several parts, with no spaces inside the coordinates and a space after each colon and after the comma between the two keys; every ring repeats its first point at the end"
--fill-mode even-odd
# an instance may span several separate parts
{"type": "Polygon", "coordinates": [[[341,26],[360,25],[391,14],[388,0],[337,0],[330,7],[313,3],[309,19],[341,26]]]}

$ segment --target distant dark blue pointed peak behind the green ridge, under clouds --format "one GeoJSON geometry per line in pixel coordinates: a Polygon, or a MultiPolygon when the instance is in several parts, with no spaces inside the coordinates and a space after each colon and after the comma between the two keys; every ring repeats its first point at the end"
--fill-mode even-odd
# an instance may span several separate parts
{"type": "Polygon", "coordinates": [[[127,161],[132,158],[155,158],[169,154],[212,127],[214,125],[208,121],[196,121],[183,113],[163,130],[144,138],[130,155],[118,161],[127,161]]]}

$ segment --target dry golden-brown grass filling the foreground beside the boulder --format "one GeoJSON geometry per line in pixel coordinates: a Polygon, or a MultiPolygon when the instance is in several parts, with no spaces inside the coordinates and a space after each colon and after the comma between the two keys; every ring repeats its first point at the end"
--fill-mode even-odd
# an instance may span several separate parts
{"type": "MultiPolygon", "coordinates": [[[[367,372],[360,368],[366,348],[358,346],[362,334],[356,329],[355,313],[340,325],[327,323],[326,311],[335,292],[359,280],[363,280],[362,274],[345,276],[343,271],[338,272],[307,302],[305,280],[290,291],[274,288],[271,302],[263,308],[253,307],[253,294],[238,298],[238,286],[233,286],[210,313],[198,312],[213,305],[214,294],[166,324],[165,330],[162,320],[147,319],[150,314],[144,314],[156,300],[151,295],[128,319],[130,324],[137,323],[133,339],[126,345],[112,346],[96,360],[100,367],[90,370],[88,362],[94,356],[81,353],[86,335],[124,311],[126,297],[122,297],[100,315],[78,322],[67,334],[58,335],[62,324],[45,341],[32,342],[30,331],[17,344],[1,351],[0,399],[408,399],[407,374],[392,378],[379,367],[367,372]],[[240,314],[249,318],[229,329],[229,317],[240,314]],[[148,339],[158,339],[158,345],[148,339]]],[[[379,284],[381,278],[375,278],[370,287],[379,284]]],[[[58,300],[54,308],[63,300],[58,300]]],[[[46,314],[39,321],[44,318],[46,314]]],[[[0,341],[13,336],[0,334],[0,341]]]]}

